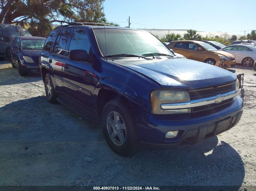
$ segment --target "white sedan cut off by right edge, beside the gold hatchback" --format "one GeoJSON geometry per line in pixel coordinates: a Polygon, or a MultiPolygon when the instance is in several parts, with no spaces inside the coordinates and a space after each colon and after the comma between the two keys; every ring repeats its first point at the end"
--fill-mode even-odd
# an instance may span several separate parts
{"type": "Polygon", "coordinates": [[[256,61],[256,46],[247,44],[234,44],[221,49],[232,54],[237,64],[252,66],[256,61]]]}

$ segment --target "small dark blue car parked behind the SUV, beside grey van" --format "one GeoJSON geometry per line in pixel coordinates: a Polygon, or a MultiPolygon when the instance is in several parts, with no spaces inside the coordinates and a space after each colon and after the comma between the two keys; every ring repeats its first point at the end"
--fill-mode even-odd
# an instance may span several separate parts
{"type": "Polygon", "coordinates": [[[44,37],[15,37],[11,49],[11,63],[21,76],[39,70],[39,56],[45,43],[44,37]]]}

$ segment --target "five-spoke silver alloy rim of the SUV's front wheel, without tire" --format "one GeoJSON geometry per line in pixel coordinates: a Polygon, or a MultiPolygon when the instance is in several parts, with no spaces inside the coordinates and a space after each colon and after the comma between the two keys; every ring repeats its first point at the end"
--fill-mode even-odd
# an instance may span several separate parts
{"type": "Polygon", "coordinates": [[[107,130],[111,141],[118,146],[125,143],[126,128],[121,115],[116,111],[111,111],[107,116],[107,130]]]}

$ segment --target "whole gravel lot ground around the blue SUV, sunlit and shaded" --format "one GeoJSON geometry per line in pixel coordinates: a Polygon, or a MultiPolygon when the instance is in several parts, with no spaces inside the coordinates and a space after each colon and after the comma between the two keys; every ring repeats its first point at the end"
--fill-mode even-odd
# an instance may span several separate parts
{"type": "Polygon", "coordinates": [[[0,62],[0,186],[256,185],[256,72],[244,73],[237,126],[186,148],[113,153],[101,127],[45,98],[39,73],[0,62]],[[92,161],[91,161],[92,160],[92,161]],[[91,162],[90,162],[91,161],[91,162]]]}

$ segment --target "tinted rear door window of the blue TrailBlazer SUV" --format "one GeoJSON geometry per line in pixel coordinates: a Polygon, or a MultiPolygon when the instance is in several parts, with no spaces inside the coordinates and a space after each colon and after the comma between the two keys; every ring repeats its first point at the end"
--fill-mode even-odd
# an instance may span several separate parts
{"type": "Polygon", "coordinates": [[[62,33],[58,35],[58,38],[55,42],[53,52],[61,55],[65,55],[65,48],[66,44],[68,42],[68,35],[69,35],[70,29],[69,30],[62,30],[62,33]]]}

